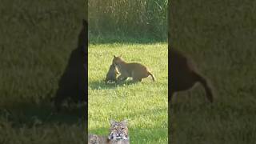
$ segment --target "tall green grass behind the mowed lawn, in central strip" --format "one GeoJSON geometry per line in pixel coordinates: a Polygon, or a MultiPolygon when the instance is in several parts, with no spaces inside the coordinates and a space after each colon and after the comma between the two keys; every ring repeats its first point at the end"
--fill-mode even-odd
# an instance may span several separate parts
{"type": "Polygon", "coordinates": [[[88,1],[90,32],[164,39],[167,31],[167,2],[167,0],[90,0],[88,1]]]}

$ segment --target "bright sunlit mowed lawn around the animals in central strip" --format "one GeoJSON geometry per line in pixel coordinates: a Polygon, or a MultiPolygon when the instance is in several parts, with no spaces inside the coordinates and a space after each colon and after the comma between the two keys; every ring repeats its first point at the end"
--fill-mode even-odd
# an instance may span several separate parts
{"type": "Polygon", "coordinates": [[[107,135],[111,118],[126,118],[131,143],[167,143],[167,44],[91,44],[88,55],[89,133],[107,135]],[[120,54],[126,62],[148,66],[156,82],[148,77],[136,84],[106,85],[104,79],[112,58],[120,54]]]}

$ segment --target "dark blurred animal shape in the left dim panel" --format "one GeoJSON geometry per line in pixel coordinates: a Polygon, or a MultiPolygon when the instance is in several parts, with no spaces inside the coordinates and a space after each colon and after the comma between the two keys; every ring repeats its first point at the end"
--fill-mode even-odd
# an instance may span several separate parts
{"type": "Polygon", "coordinates": [[[73,102],[87,102],[87,47],[88,23],[82,20],[82,30],[78,35],[78,46],[70,54],[65,72],[58,82],[54,106],[60,110],[62,102],[70,98],[73,102]]]}

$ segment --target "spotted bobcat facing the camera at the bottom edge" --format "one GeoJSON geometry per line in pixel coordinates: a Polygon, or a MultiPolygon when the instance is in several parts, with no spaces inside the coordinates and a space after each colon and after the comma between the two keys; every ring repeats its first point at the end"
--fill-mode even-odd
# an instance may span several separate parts
{"type": "Polygon", "coordinates": [[[111,120],[109,136],[88,134],[88,144],[130,144],[127,125],[127,120],[122,122],[111,120]]]}

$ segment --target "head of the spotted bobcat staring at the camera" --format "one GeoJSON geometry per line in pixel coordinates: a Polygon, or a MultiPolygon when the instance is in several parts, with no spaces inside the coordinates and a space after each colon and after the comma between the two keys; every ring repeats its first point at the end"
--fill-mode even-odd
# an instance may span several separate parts
{"type": "Polygon", "coordinates": [[[119,140],[119,139],[129,139],[128,136],[128,121],[124,120],[121,122],[116,122],[114,120],[111,120],[111,126],[110,126],[110,140],[119,140]]]}

